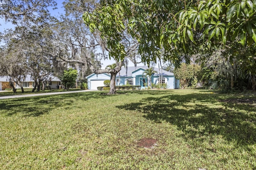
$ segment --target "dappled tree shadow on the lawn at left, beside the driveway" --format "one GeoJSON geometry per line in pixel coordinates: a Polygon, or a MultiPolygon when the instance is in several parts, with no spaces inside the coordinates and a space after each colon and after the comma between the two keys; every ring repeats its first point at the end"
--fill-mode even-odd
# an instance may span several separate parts
{"type": "MultiPolygon", "coordinates": [[[[62,110],[73,108],[73,104],[78,101],[87,101],[89,99],[103,98],[98,93],[68,93],[59,95],[22,97],[15,99],[0,100],[0,114],[12,116],[23,114],[24,117],[40,116],[48,114],[53,109],[61,107],[62,110]]],[[[82,109],[77,107],[78,109],[82,109]]]]}

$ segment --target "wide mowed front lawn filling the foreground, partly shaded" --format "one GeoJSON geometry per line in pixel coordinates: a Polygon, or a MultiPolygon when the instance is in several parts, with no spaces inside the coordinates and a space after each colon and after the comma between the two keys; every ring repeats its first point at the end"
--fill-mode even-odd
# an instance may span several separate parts
{"type": "Polygon", "coordinates": [[[101,93],[0,100],[0,169],[256,169],[255,94],[101,93]]]}

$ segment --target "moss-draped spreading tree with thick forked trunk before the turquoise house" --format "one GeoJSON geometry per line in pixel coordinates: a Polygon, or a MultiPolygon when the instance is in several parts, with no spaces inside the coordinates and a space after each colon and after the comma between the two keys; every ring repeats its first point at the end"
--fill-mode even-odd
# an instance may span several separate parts
{"type": "MultiPolygon", "coordinates": [[[[127,31],[124,30],[122,32],[120,43],[124,48],[125,57],[123,59],[117,59],[115,67],[101,69],[99,65],[92,64],[93,61],[100,61],[101,59],[108,57],[106,51],[108,51],[109,58],[112,57],[111,54],[116,52],[114,50],[116,49],[116,46],[108,46],[106,40],[100,37],[99,32],[89,32],[88,26],[84,24],[84,21],[79,16],[82,15],[85,10],[91,11],[98,7],[99,3],[96,1],[91,3],[91,0],[67,0],[65,1],[64,6],[66,9],[66,16],[64,17],[64,22],[62,24],[65,27],[62,28],[65,30],[65,28],[70,27],[70,31],[66,31],[68,36],[63,36],[62,29],[57,29],[61,30],[59,32],[59,37],[66,37],[64,41],[60,41],[64,47],[62,48],[62,53],[64,55],[60,55],[60,60],[83,64],[96,74],[110,73],[111,80],[109,94],[115,94],[116,74],[121,70],[122,65],[127,61],[127,58],[133,63],[137,63],[136,58],[138,58],[138,55],[136,53],[138,51],[138,42],[131,38],[127,31]],[[78,8],[78,10],[76,10],[76,8],[78,8]],[[66,21],[68,21],[68,24],[66,21]],[[96,47],[99,47],[98,50],[101,50],[101,53],[95,54],[96,47]],[[63,52],[65,49],[70,50],[63,52]]],[[[124,53],[122,53],[122,51],[118,52],[120,55],[124,55],[124,53]]]]}

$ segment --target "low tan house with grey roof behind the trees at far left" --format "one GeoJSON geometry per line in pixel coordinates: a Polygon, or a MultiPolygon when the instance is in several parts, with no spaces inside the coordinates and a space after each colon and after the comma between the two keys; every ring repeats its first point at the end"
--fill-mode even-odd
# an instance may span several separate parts
{"type": "MultiPolygon", "coordinates": [[[[31,79],[30,77],[31,77],[30,75],[27,75],[24,82],[22,82],[23,88],[33,88],[35,86],[34,80],[31,79]]],[[[58,89],[58,88],[62,87],[62,84],[61,84],[60,79],[58,79],[57,77],[52,77],[52,80],[50,81],[49,86],[52,89],[58,89]]],[[[16,88],[20,88],[20,87],[18,85],[16,85],[16,88]]],[[[4,89],[12,89],[7,76],[0,77],[0,90],[4,90],[4,89]]]]}

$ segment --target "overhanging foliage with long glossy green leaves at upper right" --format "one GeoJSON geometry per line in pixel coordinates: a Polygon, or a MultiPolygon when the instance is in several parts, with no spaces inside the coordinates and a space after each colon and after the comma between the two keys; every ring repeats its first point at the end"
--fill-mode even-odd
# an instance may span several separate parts
{"type": "Polygon", "coordinates": [[[140,43],[138,51],[147,63],[156,61],[162,51],[164,60],[178,66],[199,49],[209,53],[215,45],[256,44],[254,0],[101,0],[100,4],[83,18],[92,32],[101,32],[115,59],[125,56],[120,41],[126,29],[140,43]]]}

